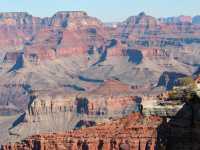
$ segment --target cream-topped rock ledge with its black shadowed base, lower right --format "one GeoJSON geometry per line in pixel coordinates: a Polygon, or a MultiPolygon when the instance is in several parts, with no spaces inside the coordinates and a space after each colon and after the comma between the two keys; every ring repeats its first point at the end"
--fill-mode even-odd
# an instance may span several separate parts
{"type": "Polygon", "coordinates": [[[144,115],[156,115],[164,122],[157,129],[158,149],[198,150],[199,144],[199,102],[146,101],[144,115]]]}

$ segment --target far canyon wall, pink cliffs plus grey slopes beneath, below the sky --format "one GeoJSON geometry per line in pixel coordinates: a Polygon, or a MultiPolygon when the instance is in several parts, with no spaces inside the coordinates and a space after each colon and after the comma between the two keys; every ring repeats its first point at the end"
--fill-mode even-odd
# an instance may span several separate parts
{"type": "MultiPolygon", "coordinates": [[[[145,89],[144,93],[155,85],[167,90],[173,85],[158,84],[163,72],[169,78],[170,74],[192,75],[200,63],[200,25],[188,17],[169,23],[140,13],[106,26],[79,11],[57,12],[48,18],[28,13],[0,16],[0,92],[8,95],[11,88],[7,85],[16,85],[12,88],[19,91],[15,100],[20,105],[28,104],[29,92],[18,89],[20,85],[31,90],[88,92],[115,77],[145,89]],[[23,102],[18,97],[24,97],[23,102]]],[[[24,111],[7,97],[0,101],[24,111]]]]}

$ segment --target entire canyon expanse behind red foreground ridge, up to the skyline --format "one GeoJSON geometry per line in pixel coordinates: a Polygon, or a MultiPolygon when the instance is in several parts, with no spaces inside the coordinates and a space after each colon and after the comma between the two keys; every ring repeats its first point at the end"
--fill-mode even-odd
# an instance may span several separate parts
{"type": "Polygon", "coordinates": [[[173,88],[200,63],[198,16],[140,13],[108,26],[79,11],[0,13],[0,32],[0,114],[23,113],[9,124],[14,140],[128,115],[136,96],[173,88]]]}

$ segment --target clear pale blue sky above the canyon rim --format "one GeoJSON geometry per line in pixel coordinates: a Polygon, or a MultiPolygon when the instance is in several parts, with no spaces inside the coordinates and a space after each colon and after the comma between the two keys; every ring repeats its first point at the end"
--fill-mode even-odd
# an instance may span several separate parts
{"type": "Polygon", "coordinates": [[[154,17],[200,15],[200,0],[0,0],[0,12],[50,17],[57,11],[86,11],[104,22],[123,21],[140,12],[154,17]]]}

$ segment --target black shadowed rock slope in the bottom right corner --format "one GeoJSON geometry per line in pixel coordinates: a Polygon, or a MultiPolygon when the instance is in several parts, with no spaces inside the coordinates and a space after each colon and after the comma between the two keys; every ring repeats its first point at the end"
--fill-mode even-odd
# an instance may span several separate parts
{"type": "Polygon", "coordinates": [[[199,144],[199,104],[185,104],[182,109],[160,128],[163,144],[170,150],[197,150],[199,144]],[[162,138],[163,140],[163,138],[162,138]]]}

